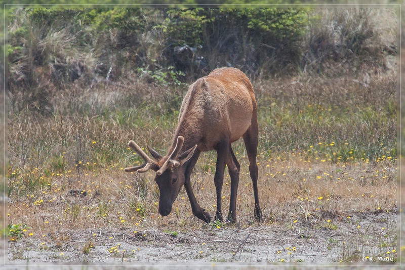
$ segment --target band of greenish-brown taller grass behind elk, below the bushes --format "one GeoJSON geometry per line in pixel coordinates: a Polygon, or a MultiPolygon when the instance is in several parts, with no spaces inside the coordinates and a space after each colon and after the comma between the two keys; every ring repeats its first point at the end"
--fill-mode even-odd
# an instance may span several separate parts
{"type": "MultiPolygon", "coordinates": [[[[394,161],[395,86],[394,76],[373,81],[368,87],[349,78],[297,77],[255,82],[259,150],[272,158],[299,151],[307,158],[332,163],[394,161]]],[[[128,88],[115,89],[126,91],[129,97],[137,95],[128,88]]],[[[52,117],[30,111],[10,113],[10,171],[25,174],[37,168],[46,169],[48,174],[66,173],[68,169],[80,173],[80,168],[95,170],[141,162],[139,157],[130,156],[126,146],[130,139],[165,153],[177,125],[180,105],[161,114],[172,92],[161,92],[158,87],[151,89],[153,92],[162,94],[156,99],[143,97],[143,101],[139,98],[134,102],[123,102],[118,94],[97,92],[94,94],[99,96],[98,103],[84,98],[88,93],[82,92],[55,100],[60,109],[52,117]]],[[[245,151],[241,142],[235,143],[234,148],[245,151]]]]}

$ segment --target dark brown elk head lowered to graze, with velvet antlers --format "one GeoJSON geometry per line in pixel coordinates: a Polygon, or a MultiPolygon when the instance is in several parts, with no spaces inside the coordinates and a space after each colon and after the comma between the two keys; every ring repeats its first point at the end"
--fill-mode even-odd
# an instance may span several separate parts
{"type": "Polygon", "coordinates": [[[155,182],[159,187],[159,213],[167,216],[172,211],[173,202],[179,195],[181,186],[184,184],[185,163],[193,156],[197,145],[184,151],[179,155],[183,146],[184,138],[177,137],[176,146],[166,157],[160,156],[149,145],[146,145],[150,155],[156,160],[149,158],[146,153],[134,141],[130,141],[128,146],[133,148],[139,156],[145,161],[142,165],[125,168],[126,172],[144,173],[149,169],[156,172],[155,182]]]}

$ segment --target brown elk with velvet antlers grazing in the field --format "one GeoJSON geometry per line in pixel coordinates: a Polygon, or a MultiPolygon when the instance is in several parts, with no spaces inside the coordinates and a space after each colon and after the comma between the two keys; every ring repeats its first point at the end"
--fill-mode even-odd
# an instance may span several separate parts
{"type": "Polygon", "coordinates": [[[225,165],[231,179],[230,203],[227,222],[236,222],[236,194],[240,165],[233,153],[231,143],[243,137],[249,158],[249,172],[255,196],[254,216],[262,219],[257,187],[258,146],[257,104],[253,86],[247,76],[236,68],[223,67],[195,81],[188,89],[179,112],[178,126],[168,155],[162,157],[149,145],[147,149],[155,159],[134,142],[128,145],[145,161],[142,165],[126,168],[126,172],[156,172],[155,182],[159,188],[159,213],[167,216],[182,185],[186,188],[192,213],[197,218],[211,222],[206,209],[195,199],[190,181],[191,172],[201,152],[216,150],[217,164],[214,183],[217,195],[215,219],[222,216],[222,185],[225,165]]]}

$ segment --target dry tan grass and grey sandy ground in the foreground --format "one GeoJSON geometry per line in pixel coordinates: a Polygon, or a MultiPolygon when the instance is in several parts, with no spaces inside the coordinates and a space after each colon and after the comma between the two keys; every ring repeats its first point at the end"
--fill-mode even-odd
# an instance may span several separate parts
{"type": "MultiPolygon", "coordinates": [[[[28,224],[32,228],[23,239],[9,238],[9,259],[43,260],[38,254],[50,254],[46,255],[47,260],[52,261],[83,261],[97,257],[134,261],[153,258],[168,247],[160,260],[235,261],[232,252],[238,253],[236,247],[246,241],[248,250],[245,248],[242,257],[237,254],[236,261],[252,261],[252,255],[256,256],[254,249],[260,250],[262,244],[264,247],[270,245],[269,249],[274,250],[267,255],[270,261],[292,261],[294,255],[288,255],[291,253],[300,258],[298,261],[306,261],[305,256],[299,256],[307,254],[306,245],[322,247],[328,256],[319,260],[328,261],[358,261],[361,254],[385,255],[396,249],[396,224],[392,218],[396,212],[396,168],[391,162],[331,164],[302,160],[297,152],[291,153],[288,159],[269,161],[261,156],[258,158],[259,196],[264,221],[255,222],[248,161],[242,154],[237,157],[242,169],[238,220],[233,226],[208,225],[194,217],[184,190],[173,204],[172,213],[161,217],[157,212],[158,190],[153,175],[127,174],[121,168],[111,166],[96,172],[85,170],[80,180],[74,172],[72,174],[76,176],[73,177],[70,173],[55,175],[49,186],[21,198],[12,196],[12,203],[8,205],[10,224],[28,224]],[[69,183],[86,189],[88,195],[84,198],[71,196],[67,192],[69,183]],[[279,232],[278,237],[266,235],[273,230],[279,232]],[[240,239],[235,232],[246,234],[240,239]],[[30,233],[33,235],[29,236],[30,233]],[[267,241],[256,243],[258,233],[267,241]],[[215,241],[220,244],[220,254],[216,253],[219,247],[215,241]],[[23,248],[18,243],[24,243],[23,248]],[[203,243],[207,243],[206,248],[203,243]],[[176,251],[177,248],[180,250],[176,251]],[[283,248],[287,250],[283,252],[283,248]],[[195,255],[189,249],[195,249],[195,255]],[[39,253],[31,254],[28,250],[39,253]],[[361,253],[356,253],[357,250],[361,253]],[[55,252],[56,255],[52,255],[55,252]]],[[[211,166],[212,155],[202,156],[192,178],[198,202],[214,214],[215,187],[211,166]]],[[[229,180],[227,175],[223,188],[224,213],[229,203],[229,180]]],[[[314,253],[313,250],[309,252],[314,253]]],[[[395,254],[392,252],[390,256],[395,254]]],[[[262,254],[260,258],[266,257],[262,254]]]]}

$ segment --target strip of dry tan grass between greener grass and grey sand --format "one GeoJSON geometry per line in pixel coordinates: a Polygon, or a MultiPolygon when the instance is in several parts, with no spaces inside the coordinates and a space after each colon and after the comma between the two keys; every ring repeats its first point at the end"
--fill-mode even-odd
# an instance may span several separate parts
{"type": "MultiPolygon", "coordinates": [[[[264,224],[283,224],[294,219],[344,219],[355,212],[395,211],[396,168],[390,162],[366,164],[348,162],[330,164],[316,160],[266,160],[260,157],[259,190],[264,224]],[[311,162],[310,162],[311,161],[311,162]],[[267,167],[268,166],[268,167],[267,167]]],[[[241,158],[238,190],[238,223],[253,222],[253,191],[248,177],[247,159],[241,158]]],[[[215,212],[213,172],[205,170],[213,162],[201,157],[194,172],[194,190],[201,206],[215,212]],[[202,168],[201,168],[202,167],[202,168]]],[[[212,165],[213,166],[213,165],[212,165]]],[[[39,174],[32,172],[32,176],[39,174]]],[[[84,170],[77,180],[76,172],[56,175],[52,184],[15,198],[9,205],[11,223],[25,223],[36,234],[43,231],[86,227],[170,227],[188,230],[203,225],[193,217],[187,195],[182,190],[168,217],[157,213],[158,190],[153,176],[125,174],[114,166],[97,172],[84,170]],[[119,180],[118,180],[119,179],[119,180]],[[85,189],[88,195],[78,198],[68,194],[71,188],[85,189]],[[125,220],[123,222],[122,220],[125,220]],[[47,222],[48,221],[48,222],[47,222]],[[184,227],[184,225],[186,225],[184,227]]],[[[229,176],[223,188],[224,212],[229,201],[229,176]]]]}

